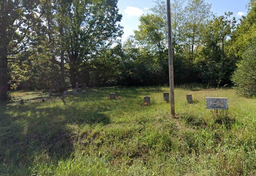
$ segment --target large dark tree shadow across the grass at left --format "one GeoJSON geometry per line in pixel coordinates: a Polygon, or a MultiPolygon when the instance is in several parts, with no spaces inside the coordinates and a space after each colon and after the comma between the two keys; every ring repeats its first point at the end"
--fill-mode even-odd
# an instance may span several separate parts
{"type": "MultiPolygon", "coordinates": [[[[62,102],[66,104],[64,98],[62,102]]],[[[93,104],[83,108],[53,103],[50,106],[8,103],[0,104],[0,175],[32,166],[42,155],[47,161],[70,158],[77,140],[70,129],[72,124],[109,123],[109,118],[93,104]],[[3,165],[8,167],[1,169],[3,165]]]]}

